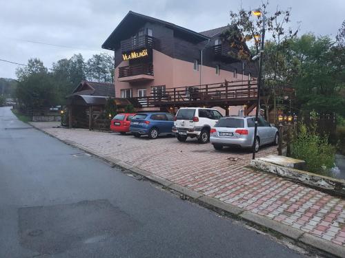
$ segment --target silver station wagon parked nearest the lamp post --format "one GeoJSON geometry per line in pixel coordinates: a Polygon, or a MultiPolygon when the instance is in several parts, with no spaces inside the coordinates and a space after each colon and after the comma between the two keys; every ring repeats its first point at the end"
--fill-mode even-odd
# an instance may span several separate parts
{"type": "MultiPolygon", "coordinates": [[[[210,142],[217,150],[224,146],[251,148],[254,142],[254,127],[255,116],[226,116],[219,119],[210,130],[210,142]]],[[[259,117],[255,151],[259,151],[259,147],[264,144],[278,144],[278,140],[278,129],[259,117]]]]}

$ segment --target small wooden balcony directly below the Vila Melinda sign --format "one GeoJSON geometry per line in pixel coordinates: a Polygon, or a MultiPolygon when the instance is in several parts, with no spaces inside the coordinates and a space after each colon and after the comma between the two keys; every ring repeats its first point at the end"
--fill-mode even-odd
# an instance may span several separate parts
{"type": "Polygon", "coordinates": [[[154,80],[153,64],[141,63],[119,67],[119,81],[135,82],[140,80],[154,80]]]}

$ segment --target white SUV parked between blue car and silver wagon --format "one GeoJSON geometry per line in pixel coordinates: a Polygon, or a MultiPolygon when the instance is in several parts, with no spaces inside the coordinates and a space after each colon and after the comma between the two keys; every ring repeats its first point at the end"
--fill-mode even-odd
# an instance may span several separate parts
{"type": "Polygon", "coordinates": [[[189,136],[197,137],[200,143],[206,143],[210,140],[211,127],[214,127],[221,117],[217,109],[183,107],[177,111],[172,131],[180,142],[186,141],[189,136]]]}

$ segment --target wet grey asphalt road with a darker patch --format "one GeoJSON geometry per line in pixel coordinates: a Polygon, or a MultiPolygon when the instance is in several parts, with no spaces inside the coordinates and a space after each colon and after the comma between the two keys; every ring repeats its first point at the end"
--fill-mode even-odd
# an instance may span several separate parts
{"type": "Polygon", "coordinates": [[[302,255],[135,180],[2,107],[0,257],[302,255]]]}

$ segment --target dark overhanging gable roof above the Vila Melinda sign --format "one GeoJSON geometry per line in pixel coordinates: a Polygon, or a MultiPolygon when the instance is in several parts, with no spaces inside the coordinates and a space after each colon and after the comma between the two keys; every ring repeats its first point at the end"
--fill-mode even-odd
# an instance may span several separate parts
{"type": "Polygon", "coordinates": [[[117,28],[115,28],[112,34],[108,36],[108,39],[106,39],[106,41],[103,43],[102,48],[107,50],[115,50],[117,47],[119,47],[120,41],[130,38],[133,30],[139,29],[146,21],[164,25],[167,28],[171,28],[172,30],[190,36],[195,41],[205,41],[208,39],[208,36],[194,32],[193,30],[188,30],[179,25],[175,25],[174,23],[169,23],[167,21],[162,21],[144,14],[129,11],[119,25],[117,25],[117,28]]]}

